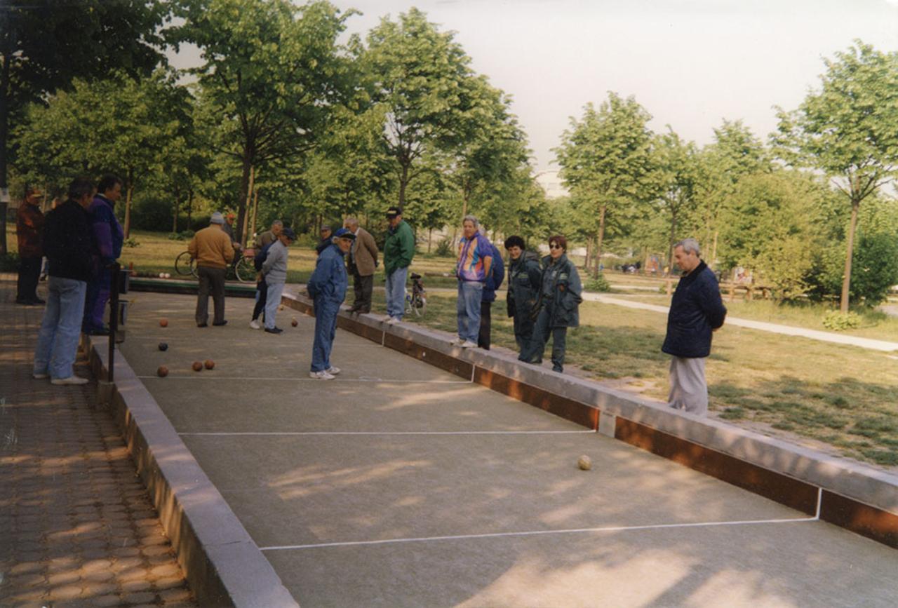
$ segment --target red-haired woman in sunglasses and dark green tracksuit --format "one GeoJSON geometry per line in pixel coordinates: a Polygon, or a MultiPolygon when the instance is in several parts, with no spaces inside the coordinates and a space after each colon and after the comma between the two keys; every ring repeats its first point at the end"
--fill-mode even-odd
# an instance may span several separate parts
{"type": "Polygon", "coordinates": [[[555,235],[549,239],[549,255],[542,259],[540,299],[533,309],[536,323],[530,343],[521,351],[519,360],[541,364],[542,353],[551,332],[552,371],[564,371],[565,340],[568,327],[580,322],[578,307],[583,302],[583,286],[573,262],[568,260],[568,240],[555,235]]]}

